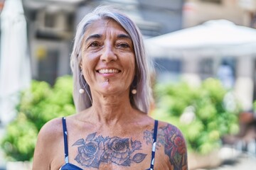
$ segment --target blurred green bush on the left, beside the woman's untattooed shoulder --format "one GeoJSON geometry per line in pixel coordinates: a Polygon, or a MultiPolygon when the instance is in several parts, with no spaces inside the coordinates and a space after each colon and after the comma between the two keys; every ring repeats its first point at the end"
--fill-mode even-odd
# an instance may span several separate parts
{"type": "Polygon", "coordinates": [[[30,161],[41,127],[53,118],[75,113],[72,96],[72,78],[60,77],[53,87],[44,81],[32,81],[31,88],[23,91],[18,104],[18,115],[6,129],[1,141],[7,159],[30,161]]]}

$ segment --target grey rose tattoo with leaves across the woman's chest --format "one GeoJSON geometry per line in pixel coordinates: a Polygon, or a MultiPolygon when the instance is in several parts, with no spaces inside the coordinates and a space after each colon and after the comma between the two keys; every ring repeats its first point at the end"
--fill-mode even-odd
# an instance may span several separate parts
{"type": "Polygon", "coordinates": [[[96,132],[86,139],[76,141],[73,146],[78,147],[75,161],[85,167],[99,168],[102,162],[112,162],[120,166],[130,166],[132,163],[142,162],[146,154],[135,153],[142,148],[142,143],[129,138],[102,137],[96,132]]]}

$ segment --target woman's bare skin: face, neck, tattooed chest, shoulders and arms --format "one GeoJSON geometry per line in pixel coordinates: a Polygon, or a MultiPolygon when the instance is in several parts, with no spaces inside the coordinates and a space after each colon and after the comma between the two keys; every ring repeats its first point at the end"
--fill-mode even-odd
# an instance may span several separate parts
{"type": "MultiPolygon", "coordinates": [[[[135,72],[131,38],[116,22],[99,20],[86,30],[82,43],[80,67],[92,92],[92,107],[66,118],[70,164],[81,169],[149,169],[154,120],[129,103],[135,72]]],[[[55,118],[39,132],[33,169],[60,169],[63,164],[62,121],[55,118]]],[[[188,169],[181,132],[164,122],[159,122],[154,169],[188,169]]]]}

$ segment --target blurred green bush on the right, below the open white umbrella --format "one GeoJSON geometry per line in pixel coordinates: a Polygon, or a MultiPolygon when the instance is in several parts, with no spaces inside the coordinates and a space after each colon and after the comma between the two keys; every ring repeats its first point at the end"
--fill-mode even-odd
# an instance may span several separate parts
{"type": "Polygon", "coordinates": [[[198,88],[156,84],[154,92],[152,117],[180,128],[192,152],[208,154],[220,147],[223,135],[238,133],[239,105],[217,79],[206,79],[198,88]]]}

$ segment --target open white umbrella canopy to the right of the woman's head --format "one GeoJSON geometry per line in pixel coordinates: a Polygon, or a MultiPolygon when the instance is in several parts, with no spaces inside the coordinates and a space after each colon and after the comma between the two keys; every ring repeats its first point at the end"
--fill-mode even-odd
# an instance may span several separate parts
{"type": "Polygon", "coordinates": [[[186,62],[185,67],[191,65],[193,72],[185,72],[185,79],[199,82],[195,74],[196,65],[193,60],[200,57],[240,57],[238,60],[237,79],[235,80],[235,93],[247,110],[252,107],[252,56],[256,55],[256,30],[245,26],[236,26],[225,20],[207,21],[200,26],[194,26],[173,33],[160,35],[145,40],[147,55],[151,57],[177,57],[186,62]],[[245,57],[245,56],[250,56],[245,57]],[[242,58],[243,57],[243,58],[242,58]],[[242,60],[241,60],[242,59],[242,60]],[[190,63],[192,62],[192,63],[190,63]]]}

